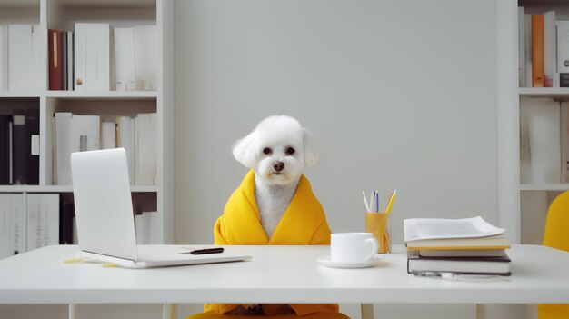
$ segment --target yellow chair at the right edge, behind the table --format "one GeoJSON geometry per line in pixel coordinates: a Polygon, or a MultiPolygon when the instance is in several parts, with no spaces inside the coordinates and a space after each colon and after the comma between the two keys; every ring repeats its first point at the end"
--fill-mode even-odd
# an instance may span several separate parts
{"type": "MultiPolygon", "coordinates": [[[[569,192],[554,199],[545,220],[544,246],[569,252],[569,192]]],[[[538,304],[539,319],[569,318],[569,304],[538,304]]]]}

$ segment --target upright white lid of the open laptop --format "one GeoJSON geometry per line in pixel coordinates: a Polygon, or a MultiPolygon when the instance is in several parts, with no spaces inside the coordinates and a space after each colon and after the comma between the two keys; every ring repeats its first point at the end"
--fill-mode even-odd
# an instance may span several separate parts
{"type": "Polygon", "coordinates": [[[125,149],[73,153],[71,174],[81,250],[136,260],[125,149]]]}

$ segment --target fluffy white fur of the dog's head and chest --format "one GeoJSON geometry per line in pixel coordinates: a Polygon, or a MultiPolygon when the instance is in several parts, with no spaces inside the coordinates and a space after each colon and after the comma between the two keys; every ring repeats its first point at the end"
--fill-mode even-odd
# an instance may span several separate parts
{"type": "Polygon", "coordinates": [[[255,170],[255,200],[270,238],[293,199],[304,168],[318,163],[314,135],[293,117],[273,115],[237,141],[233,155],[255,170]]]}

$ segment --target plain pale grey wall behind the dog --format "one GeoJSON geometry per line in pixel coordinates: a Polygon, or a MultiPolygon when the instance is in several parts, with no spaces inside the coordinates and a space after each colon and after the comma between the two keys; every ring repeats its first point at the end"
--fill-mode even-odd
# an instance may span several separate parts
{"type": "Polygon", "coordinates": [[[246,173],[231,146],[277,114],[319,137],[321,164],[305,174],[334,232],[364,229],[364,189],[398,189],[395,244],[408,217],[496,224],[495,14],[493,0],[177,1],[176,243],[213,242],[246,173]]]}

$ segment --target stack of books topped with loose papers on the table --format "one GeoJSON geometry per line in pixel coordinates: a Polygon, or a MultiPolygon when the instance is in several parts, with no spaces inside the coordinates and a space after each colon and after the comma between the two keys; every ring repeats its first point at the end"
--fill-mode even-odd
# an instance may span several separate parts
{"type": "Polygon", "coordinates": [[[407,273],[510,275],[504,232],[480,216],[405,219],[407,273]]]}

